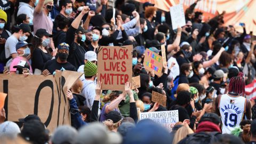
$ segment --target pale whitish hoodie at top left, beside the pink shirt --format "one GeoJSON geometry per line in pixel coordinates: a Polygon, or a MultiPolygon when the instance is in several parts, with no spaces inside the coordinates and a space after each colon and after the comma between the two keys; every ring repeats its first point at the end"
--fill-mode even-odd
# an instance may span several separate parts
{"type": "Polygon", "coordinates": [[[27,3],[23,3],[23,2],[20,2],[20,5],[19,5],[19,10],[18,10],[18,13],[17,13],[17,16],[20,15],[20,14],[27,14],[27,16],[33,20],[34,16],[33,16],[33,13],[34,13],[34,7],[32,7],[31,5],[27,4],[27,3]]]}

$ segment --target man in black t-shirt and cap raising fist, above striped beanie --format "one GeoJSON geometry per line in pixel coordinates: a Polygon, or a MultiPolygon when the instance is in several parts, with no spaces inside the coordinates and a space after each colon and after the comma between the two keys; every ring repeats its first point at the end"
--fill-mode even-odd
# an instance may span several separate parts
{"type": "Polygon", "coordinates": [[[84,14],[89,12],[89,7],[84,6],[83,10],[76,19],[71,23],[71,26],[68,28],[66,34],[66,43],[70,45],[68,62],[78,69],[79,66],[84,65],[84,54],[87,51],[87,47],[85,45],[85,33],[88,33],[89,30],[83,29],[83,27],[79,26],[84,14]]]}

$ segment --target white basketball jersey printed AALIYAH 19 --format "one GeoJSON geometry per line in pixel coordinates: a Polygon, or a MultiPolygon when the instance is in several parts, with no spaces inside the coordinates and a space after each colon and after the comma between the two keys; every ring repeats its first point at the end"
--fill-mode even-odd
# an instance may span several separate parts
{"type": "Polygon", "coordinates": [[[230,134],[239,127],[245,113],[246,98],[222,94],[219,101],[222,133],[230,134]]]}

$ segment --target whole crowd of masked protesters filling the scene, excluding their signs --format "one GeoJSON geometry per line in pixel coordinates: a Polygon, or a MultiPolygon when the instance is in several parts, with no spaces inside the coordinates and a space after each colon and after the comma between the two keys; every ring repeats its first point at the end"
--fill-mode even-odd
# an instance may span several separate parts
{"type": "Polygon", "coordinates": [[[0,1],[0,73],[83,73],[66,92],[71,125],[49,133],[37,115],[14,123],[2,108],[0,143],[256,143],[256,105],[245,95],[256,74],[256,41],[244,23],[243,33],[225,26],[225,11],[204,21],[194,10],[198,1],[175,30],[170,12],[149,2],[0,1]],[[124,45],[133,45],[132,73],[140,87],[131,90],[126,82],[124,91],[102,91],[98,48],[124,45]],[[159,77],[143,60],[146,49],[162,55],[161,45],[167,64],[159,77]],[[153,91],[166,96],[166,107],[151,101],[153,91]],[[139,119],[167,110],[179,112],[171,132],[139,119]]]}

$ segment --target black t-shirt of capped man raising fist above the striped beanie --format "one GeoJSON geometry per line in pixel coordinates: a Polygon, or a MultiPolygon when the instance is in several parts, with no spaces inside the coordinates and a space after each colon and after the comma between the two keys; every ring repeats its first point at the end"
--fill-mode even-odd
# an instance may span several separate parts
{"type": "Polygon", "coordinates": [[[66,43],[69,44],[68,62],[70,62],[76,69],[84,65],[85,47],[82,47],[74,42],[76,29],[70,26],[66,35],[66,43]]]}

